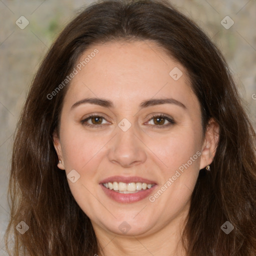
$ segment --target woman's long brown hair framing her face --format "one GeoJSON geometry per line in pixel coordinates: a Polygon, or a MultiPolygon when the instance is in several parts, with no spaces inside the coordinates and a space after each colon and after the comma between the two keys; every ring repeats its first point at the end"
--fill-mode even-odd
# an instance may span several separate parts
{"type": "MultiPolygon", "coordinates": [[[[152,40],[187,70],[205,132],[219,124],[211,171],[200,170],[183,230],[188,256],[256,255],[255,131],[242,107],[227,64],[209,38],[167,1],[109,0],[80,12],[60,33],[42,61],[17,124],[9,181],[14,254],[94,255],[99,251],[90,219],[75,202],[52,134],[68,84],[65,79],[89,46],[111,40],[152,40]],[[29,229],[20,234],[15,226],[29,229]],[[234,229],[226,234],[221,225],[234,229]]],[[[86,68],[86,67],[85,67],[86,68]]],[[[171,241],[170,241],[171,242],[171,241]]]]}

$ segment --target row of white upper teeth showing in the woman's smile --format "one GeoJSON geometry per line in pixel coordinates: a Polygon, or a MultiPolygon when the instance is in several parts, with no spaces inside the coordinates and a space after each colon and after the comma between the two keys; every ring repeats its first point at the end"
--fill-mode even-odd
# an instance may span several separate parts
{"type": "Polygon", "coordinates": [[[113,189],[116,192],[119,193],[136,193],[140,191],[141,189],[145,190],[153,186],[153,184],[147,184],[147,183],[141,183],[141,182],[130,182],[130,183],[124,183],[124,182],[107,182],[103,183],[103,186],[108,189],[113,189]]]}

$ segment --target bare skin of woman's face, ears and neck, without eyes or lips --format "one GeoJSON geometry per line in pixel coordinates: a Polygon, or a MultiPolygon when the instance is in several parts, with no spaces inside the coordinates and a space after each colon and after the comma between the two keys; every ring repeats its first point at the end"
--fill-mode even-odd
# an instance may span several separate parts
{"type": "MultiPolygon", "coordinates": [[[[218,125],[211,119],[202,136],[199,101],[186,70],[155,42],[93,45],[81,59],[94,48],[98,54],[74,76],[64,98],[59,136],[54,135],[61,160],[58,167],[66,174],[75,169],[80,175],[74,183],[68,179],[68,184],[92,222],[101,247],[99,255],[185,255],[180,242],[182,226],[199,170],[214,157],[218,125]],[[169,75],[174,67],[183,73],[176,81],[169,75]],[[84,103],[71,109],[86,97],[111,100],[114,107],[84,103]],[[177,104],[139,108],[143,100],[166,97],[186,108],[177,104]],[[92,113],[103,115],[102,127],[81,123],[92,113]],[[175,123],[159,128],[151,115],[161,113],[175,123]],[[127,131],[118,127],[123,118],[131,123],[127,131]],[[200,157],[154,202],[148,197],[116,202],[99,185],[104,178],[122,175],[154,180],[159,188],[197,151],[200,157]],[[123,221],[130,226],[126,234],[118,228],[123,221]]],[[[95,119],[87,123],[95,125],[92,121],[95,123],[95,119]]],[[[163,119],[161,125],[168,123],[163,119]]]]}

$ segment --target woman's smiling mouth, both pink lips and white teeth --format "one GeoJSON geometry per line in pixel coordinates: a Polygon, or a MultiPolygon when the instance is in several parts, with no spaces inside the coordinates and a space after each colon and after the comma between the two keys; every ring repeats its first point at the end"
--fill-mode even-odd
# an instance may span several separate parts
{"type": "Polygon", "coordinates": [[[112,176],[99,183],[105,194],[117,202],[135,202],[148,196],[157,186],[142,177],[112,176]]]}

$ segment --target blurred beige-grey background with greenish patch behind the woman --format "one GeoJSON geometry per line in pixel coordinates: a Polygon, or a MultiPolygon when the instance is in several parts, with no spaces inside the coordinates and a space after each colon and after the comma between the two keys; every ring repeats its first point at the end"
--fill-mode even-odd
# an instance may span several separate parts
{"type": "MultiPolygon", "coordinates": [[[[0,0],[0,256],[9,217],[7,183],[15,125],[40,61],[92,0],[0,0]]],[[[170,0],[220,48],[256,128],[256,1],[170,0]]]]}

